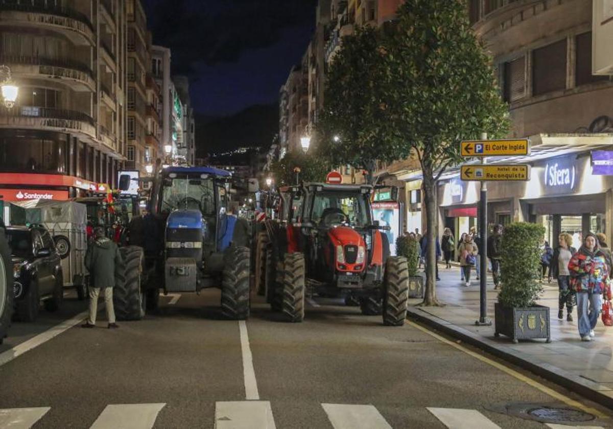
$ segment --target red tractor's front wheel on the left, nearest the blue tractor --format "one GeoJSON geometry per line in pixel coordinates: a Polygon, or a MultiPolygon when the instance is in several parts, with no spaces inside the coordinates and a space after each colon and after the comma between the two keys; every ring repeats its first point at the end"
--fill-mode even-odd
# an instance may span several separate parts
{"type": "Polygon", "coordinates": [[[285,255],[282,284],[283,315],[288,322],[302,322],[305,318],[305,257],[302,253],[285,255]]]}

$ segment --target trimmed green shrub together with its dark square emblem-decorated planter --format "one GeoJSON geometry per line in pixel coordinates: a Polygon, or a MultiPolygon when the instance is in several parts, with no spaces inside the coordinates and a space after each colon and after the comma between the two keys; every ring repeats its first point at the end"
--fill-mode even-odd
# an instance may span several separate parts
{"type": "Polygon", "coordinates": [[[551,341],[549,307],[536,304],[543,292],[538,283],[540,245],[545,234],[541,225],[517,222],[504,229],[501,241],[501,290],[494,306],[494,335],[519,340],[551,341]]]}

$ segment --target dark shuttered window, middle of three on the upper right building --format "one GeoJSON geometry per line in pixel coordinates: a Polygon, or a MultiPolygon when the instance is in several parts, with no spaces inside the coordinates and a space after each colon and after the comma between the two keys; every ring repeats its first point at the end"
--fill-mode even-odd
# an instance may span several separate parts
{"type": "Polygon", "coordinates": [[[532,94],[566,88],[566,39],[532,53],[532,94]]]}

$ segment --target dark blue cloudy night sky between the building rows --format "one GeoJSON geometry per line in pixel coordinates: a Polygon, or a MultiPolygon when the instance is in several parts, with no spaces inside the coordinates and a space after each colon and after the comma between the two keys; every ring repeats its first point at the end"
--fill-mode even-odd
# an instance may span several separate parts
{"type": "Polygon", "coordinates": [[[270,104],[314,30],[317,0],[144,0],[154,44],[170,47],[200,115],[270,104]]]}

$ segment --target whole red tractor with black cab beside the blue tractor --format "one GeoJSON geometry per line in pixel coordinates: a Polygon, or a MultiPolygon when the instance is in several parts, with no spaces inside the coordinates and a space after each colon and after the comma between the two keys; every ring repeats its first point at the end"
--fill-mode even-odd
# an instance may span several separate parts
{"type": "Polygon", "coordinates": [[[280,189],[278,218],[256,242],[256,285],[272,309],[302,322],[305,294],[344,297],[385,325],[405,323],[408,267],[389,256],[367,185],[307,183],[280,189]]]}

